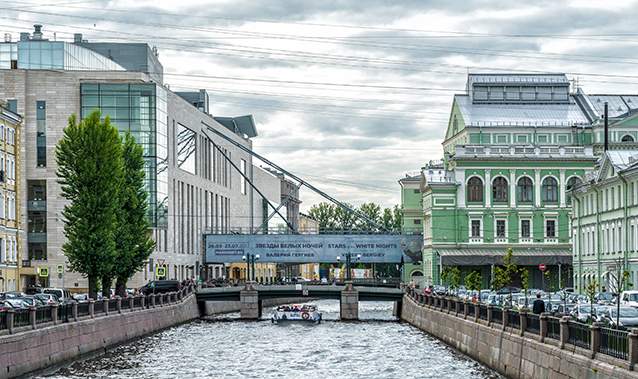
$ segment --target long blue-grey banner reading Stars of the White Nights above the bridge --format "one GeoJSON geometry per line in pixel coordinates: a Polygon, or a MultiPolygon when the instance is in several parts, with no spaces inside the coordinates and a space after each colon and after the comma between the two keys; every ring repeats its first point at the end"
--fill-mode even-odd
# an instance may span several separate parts
{"type": "Polygon", "coordinates": [[[207,234],[206,263],[242,262],[247,254],[259,262],[411,263],[420,260],[423,237],[399,234],[207,234]],[[357,260],[357,257],[359,259],[357,260]]]}

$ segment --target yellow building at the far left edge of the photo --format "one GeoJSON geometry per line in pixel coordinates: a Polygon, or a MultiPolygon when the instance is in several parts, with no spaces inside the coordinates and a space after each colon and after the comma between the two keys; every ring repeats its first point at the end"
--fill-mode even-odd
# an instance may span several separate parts
{"type": "Polygon", "coordinates": [[[18,221],[19,152],[22,117],[0,103],[0,292],[23,290],[18,221]]]}

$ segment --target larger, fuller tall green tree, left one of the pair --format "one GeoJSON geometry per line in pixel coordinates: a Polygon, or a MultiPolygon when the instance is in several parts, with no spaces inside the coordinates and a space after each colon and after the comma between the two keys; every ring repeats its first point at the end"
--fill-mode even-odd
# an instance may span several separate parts
{"type": "Polygon", "coordinates": [[[58,182],[68,200],[62,211],[66,242],[62,251],[73,271],[89,281],[89,296],[114,265],[118,191],[122,177],[121,142],[109,118],[99,111],[77,122],[75,115],[55,151],[58,182]],[[114,196],[115,195],[115,196],[114,196]]]}

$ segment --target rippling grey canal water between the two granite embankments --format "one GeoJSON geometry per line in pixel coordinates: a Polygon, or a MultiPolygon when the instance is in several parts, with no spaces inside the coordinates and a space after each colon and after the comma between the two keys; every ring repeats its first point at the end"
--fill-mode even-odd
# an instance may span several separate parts
{"type": "Polygon", "coordinates": [[[319,325],[195,321],[74,362],[47,378],[500,378],[392,317],[392,303],[362,302],[365,322],[340,322],[339,302],[315,302],[319,325]]]}

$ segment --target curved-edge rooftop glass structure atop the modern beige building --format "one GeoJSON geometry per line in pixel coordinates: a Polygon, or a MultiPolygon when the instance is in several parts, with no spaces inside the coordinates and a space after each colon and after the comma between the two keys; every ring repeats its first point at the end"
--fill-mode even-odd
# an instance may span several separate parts
{"type": "Polygon", "coordinates": [[[124,70],[103,55],[62,41],[18,42],[17,57],[18,68],[25,70],[124,70]]]}

